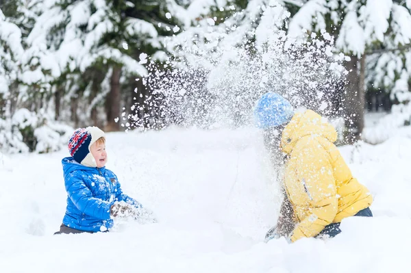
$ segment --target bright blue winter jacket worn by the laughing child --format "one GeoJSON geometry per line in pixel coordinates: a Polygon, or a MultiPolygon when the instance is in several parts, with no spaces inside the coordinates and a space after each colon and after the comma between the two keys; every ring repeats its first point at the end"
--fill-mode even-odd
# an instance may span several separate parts
{"type": "Polygon", "coordinates": [[[73,159],[62,159],[67,208],[63,224],[80,231],[107,231],[113,226],[110,207],[115,201],[125,201],[142,207],[123,194],[119,180],[111,170],[83,166],[73,159]]]}

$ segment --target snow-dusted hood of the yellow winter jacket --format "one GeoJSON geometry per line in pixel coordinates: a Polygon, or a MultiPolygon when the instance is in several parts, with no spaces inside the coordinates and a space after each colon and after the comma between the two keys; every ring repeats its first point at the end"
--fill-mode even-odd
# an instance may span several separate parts
{"type": "Polygon", "coordinates": [[[281,146],[284,153],[290,153],[296,142],[306,135],[326,138],[330,142],[337,140],[334,127],[312,110],[295,114],[282,133],[281,146]]]}

